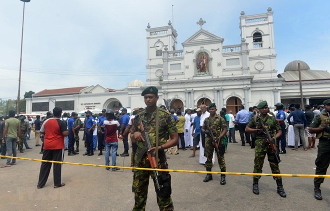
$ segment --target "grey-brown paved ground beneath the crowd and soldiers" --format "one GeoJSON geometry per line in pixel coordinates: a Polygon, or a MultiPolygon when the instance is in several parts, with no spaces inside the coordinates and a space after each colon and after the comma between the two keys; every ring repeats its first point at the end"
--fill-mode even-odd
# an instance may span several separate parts
{"type": "MultiPolygon", "coordinates": [[[[80,131],[82,134],[82,131],[80,131]]],[[[34,136],[31,133],[31,136],[34,136]]],[[[239,137],[236,133],[236,137],[239,137]]],[[[41,158],[40,146],[34,146],[35,140],[28,141],[33,149],[17,153],[17,156],[41,158]]],[[[83,146],[83,142],[80,141],[83,146]]],[[[248,145],[248,144],[247,144],[248,145]]],[[[123,151],[119,143],[119,153],[123,151]]],[[[67,156],[64,161],[104,164],[101,156],[67,156]]],[[[198,156],[189,158],[191,150],[179,150],[178,155],[170,155],[169,167],[172,169],[205,170],[198,163],[198,156]]],[[[198,155],[199,151],[197,151],[198,155]]],[[[225,161],[229,172],[252,172],[253,149],[240,143],[229,143],[225,161]]],[[[298,151],[287,149],[281,155],[282,173],[313,174],[316,149],[298,151]]],[[[0,165],[5,159],[0,159],[0,165]]],[[[117,165],[129,166],[129,157],[117,157],[117,165]]],[[[65,186],[54,189],[52,172],[44,188],[37,189],[40,163],[17,160],[17,165],[0,168],[0,210],[131,210],[133,193],[130,170],[108,171],[102,167],[63,165],[62,178],[65,186]]],[[[214,171],[219,171],[214,165],[214,171]]],[[[267,161],[263,172],[269,173],[267,161]]],[[[313,179],[303,177],[284,177],[283,186],[287,193],[281,198],[276,192],[276,183],[270,176],[259,180],[259,195],[252,193],[252,178],[244,175],[227,175],[227,184],[220,185],[220,175],[213,175],[213,180],[203,182],[205,174],[172,172],[172,199],[175,210],[329,210],[330,179],[321,185],[323,200],[313,197],[313,179]]],[[[146,210],[157,210],[153,185],[149,185],[146,210]]]]}

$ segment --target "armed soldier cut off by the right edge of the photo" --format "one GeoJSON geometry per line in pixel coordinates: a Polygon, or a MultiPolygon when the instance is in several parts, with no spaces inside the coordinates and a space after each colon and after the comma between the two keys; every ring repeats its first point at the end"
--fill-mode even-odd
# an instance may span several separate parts
{"type": "MultiPolygon", "coordinates": [[[[315,174],[326,174],[326,169],[330,164],[330,99],[323,101],[324,109],[314,117],[309,125],[310,133],[317,133],[319,137],[317,145],[317,157],[315,160],[315,174]]],[[[322,199],[319,189],[324,178],[314,178],[314,197],[322,199]]]]}

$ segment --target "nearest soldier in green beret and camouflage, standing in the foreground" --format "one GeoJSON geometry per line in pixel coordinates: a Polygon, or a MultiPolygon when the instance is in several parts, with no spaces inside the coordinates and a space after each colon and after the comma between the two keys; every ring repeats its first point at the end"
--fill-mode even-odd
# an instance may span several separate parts
{"type": "MultiPolygon", "coordinates": [[[[156,149],[156,141],[158,141],[158,168],[167,169],[167,162],[165,158],[164,149],[172,147],[178,142],[178,134],[175,126],[174,118],[172,115],[162,109],[157,108],[158,89],[154,86],[145,88],[141,95],[144,97],[146,108],[136,113],[131,132],[131,140],[137,141],[137,149],[135,153],[135,167],[150,168],[150,163],[144,149],[143,137],[141,135],[140,122],[143,125],[144,131],[148,132],[152,148],[156,149]],[[158,140],[156,140],[156,113],[158,112],[158,140]],[[169,140],[166,142],[166,132],[169,134],[169,140]]],[[[150,151],[149,150],[149,151],[150,151]]],[[[154,181],[153,171],[148,170],[135,170],[133,175],[132,191],[134,192],[134,207],[133,210],[145,210],[145,203],[148,193],[149,177],[154,181]]],[[[170,175],[168,172],[159,171],[159,177],[165,177],[168,182],[168,188],[161,188],[160,191],[156,190],[157,204],[159,210],[173,210],[173,202],[170,197],[170,175]]],[[[159,178],[158,177],[158,178],[159,178]]],[[[164,185],[165,186],[165,185],[164,185]]]]}

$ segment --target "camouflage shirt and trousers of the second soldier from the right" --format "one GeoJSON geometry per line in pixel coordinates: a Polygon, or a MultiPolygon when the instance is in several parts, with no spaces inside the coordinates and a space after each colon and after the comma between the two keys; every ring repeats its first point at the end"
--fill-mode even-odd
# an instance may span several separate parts
{"type": "MultiPolygon", "coordinates": [[[[262,119],[260,115],[254,116],[251,118],[247,124],[250,128],[262,129],[261,120],[263,121],[264,126],[268,129],[269,134],[271,137],[275,138],[275,130],[281,130],[280,125],[276,118],[271,115],[267,114],[267,116],[262,119]]],[[[275,157],[270,145],[266,142],[264,147],[262,146],[262,142],[266,138],[266,135],[256,134],[255,139],[255,148],[254,148],[254,169],[253,173],[262,173],[262,166],[265,155],[268,156],[268,161],[270,165],[270,169],[272,173],[280,173],[278,164],[275,162],[275,157]]],[[[276,144],[276,143],[274,143],[276,144]]],[[[254,178],[259,179],[261,176],[253,176],[254,178]]],[[[273,177],[275,180],[281,179],[281,177],[273,177]]]]}

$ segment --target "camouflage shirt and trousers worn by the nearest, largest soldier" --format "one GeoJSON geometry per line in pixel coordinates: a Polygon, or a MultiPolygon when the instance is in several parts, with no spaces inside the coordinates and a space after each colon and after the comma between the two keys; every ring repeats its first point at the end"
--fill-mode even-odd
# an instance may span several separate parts
{"type": "MultiPolygon", "coordinates": [[[[157,112],[157,111],[156,111],[157,112]]],[[[134,118],[132,131],[141,131],[139,123],[142,121],[144,130],[148,132],[151,147],[156,145],[156,112],[153,112],[152,114],[147,112],[146,109],[139,111],[134,118]]],[[[174,118],[172,115],[163,109],[158,109],[158,115],[159,115],[159,141],[158,145],[166,143],[166,132],[168,134],[172,134],[174,132],[177,132],[174,118]]],[[[139,160],[138,157],[141,157],[141,149],[144,147],[143,142],[138,141],[137,142],[137,149],[135,153],[135,167],[145,167],[150,168],[150,163],[147,159],[146,153],[142,156],[142,158],[139,160]]],[[[168,165],[165,158],[165,153],[161,153],[161,151],[158,151],[158,157],[162,156],[163,162],[161,163],[160,159],[158,158],[158,168],[167,169],[168,165]]],[[[159,171],[159,175],[161,174],[168,174],[168,172],[159,171]]],[[[133,175],[133,183],[132,183],[132,191],[134,192],[134,198],[135,198],[135,204],[133,207],[133,210],[145,210],[145,203],[147,199],[147,193],[148,193],[148,184],[149,184],[149,176],[151,175],[151,178],[154,178],[154,174],[152,171],[148,170],[135,170],[133,175]]],[[[155,182],[154,182],[155,185],[155,182]]],[[[173,210],[173,202],[170,197],[168,196],[161,196],[157,194],[157,204],[159,206],[159,210],[173,210]]]]}

